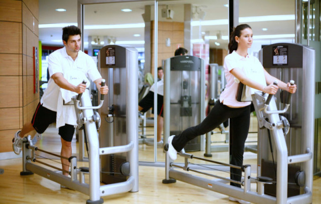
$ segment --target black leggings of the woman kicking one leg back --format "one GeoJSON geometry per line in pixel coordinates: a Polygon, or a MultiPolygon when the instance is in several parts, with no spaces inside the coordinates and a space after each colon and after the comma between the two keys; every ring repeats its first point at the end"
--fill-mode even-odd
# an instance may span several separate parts
{"type": "MultiPolygon", "coordinates": [[[[176,135],[172,140],[173,147],[179,152],[188,141],[212,131],[229,118],[230,164],[242,166],[245,140],[250,127],[250,105],[242,108],[230,108],[223,103],[217,103],[200,124],[189,127],[176,135]]],[[[231,179],[241,181],[241,177],[242,170],[231,167],[231,179]]],[[[241,187],[240,184],[234,182],[231,182],[231,185],[241,187]]]]}

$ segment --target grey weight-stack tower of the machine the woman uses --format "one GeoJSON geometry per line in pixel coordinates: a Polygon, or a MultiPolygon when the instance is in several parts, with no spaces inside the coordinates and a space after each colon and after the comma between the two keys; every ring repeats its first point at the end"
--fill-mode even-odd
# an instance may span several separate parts
{"type": "MultiPolygon", "coordinates": [[[[258,130],[258,176],[268,176],[273,180],[276,178],[277,184],[266,185],[265,193],[275,196],[276,192],[281,192],[282,196],[284,196],[282,200],[285,201],[287,196],[300,195],[304,191],[307,192],[312,189],[313,154],[311,152],[314,149],[315,51],[302,45],[278,43],[265,46],[259,52],[259,59],[263,67],[272,76],[282,81],[293,79],[297,85],[291,108],[281,117],[284,123],[287,123],[288,120],[290,125],[287,130],[289,131],[288,135],[282,136],[283,143],[280,146],[270,147],[267,144],[272,130],[268,130],[269,128],[258,130]],[[286,60],[280,63],[277,62],[277,59],[274,59],[273,50],[275,48],[278,48],[279,56],[286,60]],[[272,152],[274,149],[277,149],[277,152],[272,152]],[[305,155],[305,158],[302,158],[303,155],[305,155]],[[285,165],[280,160],[275,162],[275,156],[278,159],[287,157],[289,165],[285,165]],[[278,177],[280,174],[284,175],[285,172],[288,172],[288,177],[278,177]],[[304,173],[305,185],[290,184],[294,183],[295,179],[298,179],[304,173]],[[280,184],[279,179],[281,179],[282,184],[280,184]],[[289,182],[288,185],[286,184],[287,181],[289,182]]],[[[287,92],[281,91],[275,96],[277,99],[276,106],[279,109],[284,107],[287,92]]],[[[261,121],[258,120],[258,122],[262,124],[261,121]]],[[[270,123],[273,124],[271,121],[270,123]]],[[[273,140],[279,139],[271,138],[272,143],[275,143],[273,140]]]]}

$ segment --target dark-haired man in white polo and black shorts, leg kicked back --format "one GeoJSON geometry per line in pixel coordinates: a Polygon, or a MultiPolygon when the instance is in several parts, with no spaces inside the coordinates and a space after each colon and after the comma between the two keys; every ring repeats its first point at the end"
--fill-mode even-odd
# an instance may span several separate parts
{"type": "MultiPolygon", "coordinates": [[[[81,82],[86,77],[96,84],[100,94],[108,93],[107,86],[100,86],[101,75],[94,61],[90,56],[80,51],[80,29],[75,26],[68,26],[62,30],[62,41],[65,47],[49,55],[48,69],[50,79],[48,81],[48,88],[45,90],[31,122],[27,122],[21,131],[19,130],[15,134],[13,149],[16,154],[20,154],[22,139],[26,134],[33,130],[41,134],[51,123],[58,121],[57,110],[61,110],[63,107],[63,101],[58,100],[58,98],[61,97],[62,93],[69,96],[83,93],[86,89],[86,84],[81,82]],[[76,85],[71,83],[75,79],[77,80],[76,85]],[[58,101],[61,103],[58,103],[58,101]]],[[[72,114],[75,115],[73,105],[69,107],[72,107],[72,114]]],[[[72,153],[71,140],[76,123],[72,120],[70,123],[73,124],[68,124],[65,122],[66,120],[62,121],[63,124],[61,126],[57,125],[57,127],[59,127],[59,135],[61,136],[61,156],[69,158],[72,153]]],[[[61,163],[62,169],[68,172],[69,161],[61,159],[61,163]]],[[[65,171],[63,174],[68,175],[65,171]]]]}

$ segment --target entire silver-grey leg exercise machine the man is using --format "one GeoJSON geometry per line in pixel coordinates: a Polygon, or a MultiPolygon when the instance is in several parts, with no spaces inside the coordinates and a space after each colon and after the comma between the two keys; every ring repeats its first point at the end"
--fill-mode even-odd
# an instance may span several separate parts
{"type": "MultiPolygon", "coordinates": [[[[98,106],[92,106],[88,89],[72,98],[77,116],[77,128],[83,129],[83,137],[86,140],[89,168],[77,167],[75,156],[66,158],[39,149],[32,144],[31,137],[28,136],[23,140],[23,171],[20,173],[21,175],[37,173],[87,194],[89,195],[87,204],[103,203],[101,196],[138,191],[138,79],[135,64],[137,50],[105,46],[99,54],[100,68],[108,68],[101,69],[100,72],[103,78],[108,79],[109,94],[105,98],[101,95],[98,106]],[[122,57],[125,56],[130,60],[123,60],[122,57]],[[122,77],[125,77],[125,80],[122,77]],[[99,109],[101,119],[95,109],[99,109]],[[100,124],[102,125],[98,137],[97,129],[100,124]],[[66,173],[70,177],[62,174],[65,172],[63,169],[36,158],[37,151],[68,159],[70,171],[66,173]],[[89,183],[85,182],[85,174],[89,174],[89,183]],[[100,182],[105,184],[101,185],[100,182]]],[[[79,148],[81,145],[83,144],[79,141],[79,148]]]]}

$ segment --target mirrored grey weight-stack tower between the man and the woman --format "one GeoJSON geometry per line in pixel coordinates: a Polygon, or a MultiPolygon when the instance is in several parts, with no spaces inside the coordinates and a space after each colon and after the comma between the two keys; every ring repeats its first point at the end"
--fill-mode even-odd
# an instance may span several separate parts
{"type": "MultiPolygon", "coordinates": [[[[194,56],[175,56],[164,63],[164,141],[204,119],[205,65],[194,56]]],[[[185,151],[204,150],[204,136],[196,137],[185,151]]]]}

